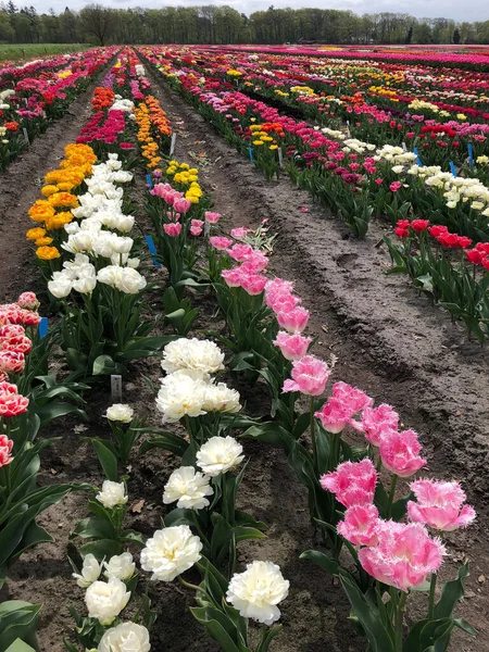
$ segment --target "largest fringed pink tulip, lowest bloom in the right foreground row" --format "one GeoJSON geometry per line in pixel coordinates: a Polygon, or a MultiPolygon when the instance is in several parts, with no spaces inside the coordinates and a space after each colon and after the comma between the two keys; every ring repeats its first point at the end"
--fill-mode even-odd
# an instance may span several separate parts
{"type": "Polygon", "coordinates": [[[408,592],[436,573],[446,550],[418,523],[389,521],[378,526],[379,543],[359,550],[363,568],[378,581],[408,592]]]}

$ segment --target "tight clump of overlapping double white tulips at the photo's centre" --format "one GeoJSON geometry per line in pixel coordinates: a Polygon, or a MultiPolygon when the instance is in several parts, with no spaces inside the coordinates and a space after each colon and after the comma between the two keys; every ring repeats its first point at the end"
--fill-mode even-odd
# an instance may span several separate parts
{"type": "Polygon", "coordinates": [[[156,408],[164,423],[185,415],[208,412],[239,412],[239,393],[210,374],[223,368],[224,353],[210,340],[179,338],[164,349],[162,367],[168,374],[161,380],[156,408]]]}

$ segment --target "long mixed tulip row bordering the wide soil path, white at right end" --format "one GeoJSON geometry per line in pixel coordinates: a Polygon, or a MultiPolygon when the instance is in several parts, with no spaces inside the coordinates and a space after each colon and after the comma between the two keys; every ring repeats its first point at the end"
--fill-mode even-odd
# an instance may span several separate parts
{"type": "Polygon", "coordinates": [[[321,130],[286,117],[262,101],[230,90],[231,85],[218,78],[218,67],[199,77],[195,67],[175,67],[155,48],[143,53],[268,177],[280,168],[281,150],[292,179],[340,215],[356,235],[366,234],[371,216],[387,216],[396,224],[400,212],[403,216],[413,212],[475,240],[487,239],[489,190],[477,178],[455,176],[438,166],[422,167],[418,155],[401,147],[377,147],[340,130],[321,130]],[[278,125],[273,142],[253,136],[260,125],[278,125]]]}

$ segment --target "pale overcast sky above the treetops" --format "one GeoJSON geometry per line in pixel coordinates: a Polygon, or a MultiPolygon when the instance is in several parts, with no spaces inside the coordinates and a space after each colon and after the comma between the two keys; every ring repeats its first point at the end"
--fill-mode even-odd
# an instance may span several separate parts
{"type": "MultiPolygon", "coordinates": [[[[87,0],[14,0],[20,7],[34,4],[38,12],[53,9],[57,13],[64,11],[66,4],[72,10],[78,10],[88,4],[87,0]]],[[[147,7],[160,9],[163,7],[200,4],[228,4],[239,12],[250,14],[253,11],[266,10],[271,4],[275,8],[317,7],[321,9],[350,9],[358,14],[379,13],[383,11],[408,12],[417,17],[454,18],[455,21],[487,21],[489,20],[489,2],[487,0],[411,0],[399,4],[396,0],[99,0],[100,4],[116,8],[147,7]]]]}

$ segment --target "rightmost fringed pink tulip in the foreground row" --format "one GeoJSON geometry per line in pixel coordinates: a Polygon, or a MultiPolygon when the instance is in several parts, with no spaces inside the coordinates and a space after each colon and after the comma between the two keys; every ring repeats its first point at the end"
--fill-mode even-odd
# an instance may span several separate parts
{"type": "Polygon", "coordinates": [[[465,492],[459,482],[416,480],[410,485],[416,501],[408,503],[408,515],[439,531],[467,527],[476,517],[474,507],[464,505],[465,492]]]}

